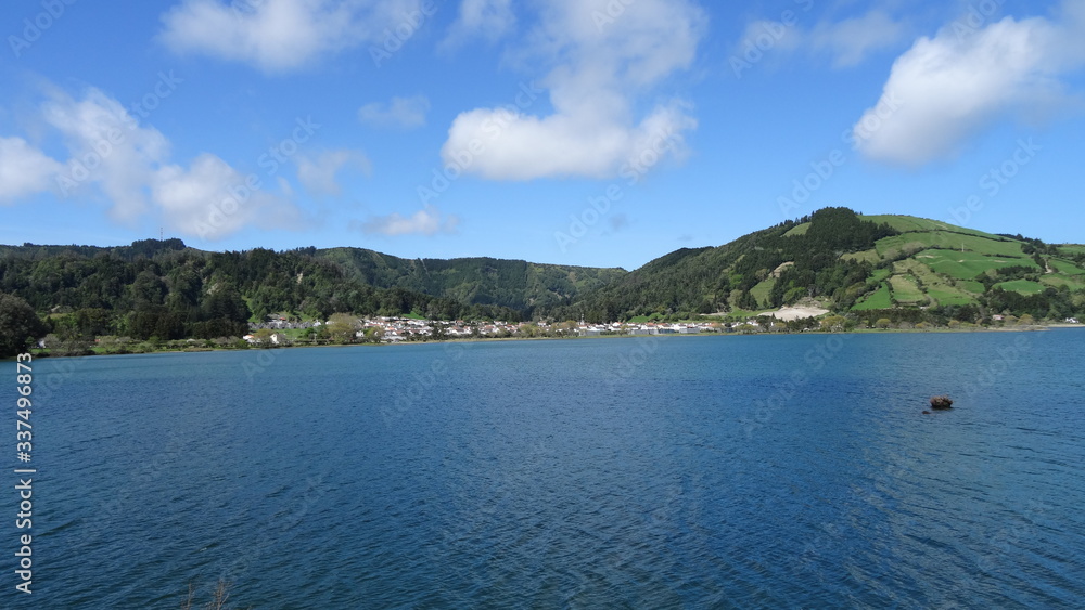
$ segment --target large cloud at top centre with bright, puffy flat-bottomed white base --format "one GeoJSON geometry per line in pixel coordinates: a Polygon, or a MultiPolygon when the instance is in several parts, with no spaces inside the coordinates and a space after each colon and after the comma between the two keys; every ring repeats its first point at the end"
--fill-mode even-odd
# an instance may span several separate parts
{"type": "Polygon", "coordinates": [[[526,113],[523,92],[510,94],[519,106],[462,113],[442,147],[445,163],[493,180],[609,178],[641,163],[649,148],[678,152],[681,133],[697,126],[688,104],[664,102],[647,113],[638,106],[690,66],[705,22],[687,0],[548,3],[519,51],[549,70],[541,85],[553,114],[526,113]]]}

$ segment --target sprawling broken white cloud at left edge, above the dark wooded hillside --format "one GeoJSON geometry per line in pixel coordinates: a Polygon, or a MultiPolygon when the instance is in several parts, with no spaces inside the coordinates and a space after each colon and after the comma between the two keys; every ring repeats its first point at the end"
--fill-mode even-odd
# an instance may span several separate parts
{"type": "Polygon", "coordinates": [[[290,202],[215,155],[188,168],[170,163],[166,137],[98,89],[81,100],[54,92],[41,113],[71,157],[62,164],[21,138],[0,138],[0,200],[54,189],[68,198],[100,193],[118,221],[157,211],[170,229],[209,239],[250,224],[298,225],[290,202]]]}

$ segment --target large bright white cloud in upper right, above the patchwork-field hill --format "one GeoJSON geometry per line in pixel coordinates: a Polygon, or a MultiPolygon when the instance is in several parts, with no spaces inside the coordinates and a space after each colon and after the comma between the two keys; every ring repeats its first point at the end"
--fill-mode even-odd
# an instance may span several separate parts
{"type": "Polygon", "coordinates": [[[1085,64],[1083,5],[1067,2],[1059,20],[1006,17],[974,30],[955,22],[920,38],[854,126],[859,151],[919,166],[957,155],[999,117],[1057,108],[1067,100],[1062,77],[1085,64]]]}

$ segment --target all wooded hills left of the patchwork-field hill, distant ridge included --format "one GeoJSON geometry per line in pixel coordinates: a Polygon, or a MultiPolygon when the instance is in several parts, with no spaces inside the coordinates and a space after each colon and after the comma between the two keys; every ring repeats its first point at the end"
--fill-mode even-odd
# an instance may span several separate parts
{"type": "Polygon", "coordinates": [[[488,258],[406,260],[358,248],[212,252],[180,239],[0,246],[0,294],[25,300],[50,330],[140,340],[241,336],[270,314],[519,321],[626,273],[488,258]]]}

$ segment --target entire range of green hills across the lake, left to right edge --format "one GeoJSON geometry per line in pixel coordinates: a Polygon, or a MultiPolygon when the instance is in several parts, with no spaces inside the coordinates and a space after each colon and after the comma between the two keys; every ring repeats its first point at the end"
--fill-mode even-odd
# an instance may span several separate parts
{"type": "Polygon", "coordinates": [[[80,333],[144,338],[218,336],[269,314],[334,312],[613,322],[742,317],[807,303],[853,320],[1060,320],[1085,312],[1085,246],[825,208],[633,272],[346,247],[214,252],[180,239],[0,246],[0,291],[80,333]]]}

